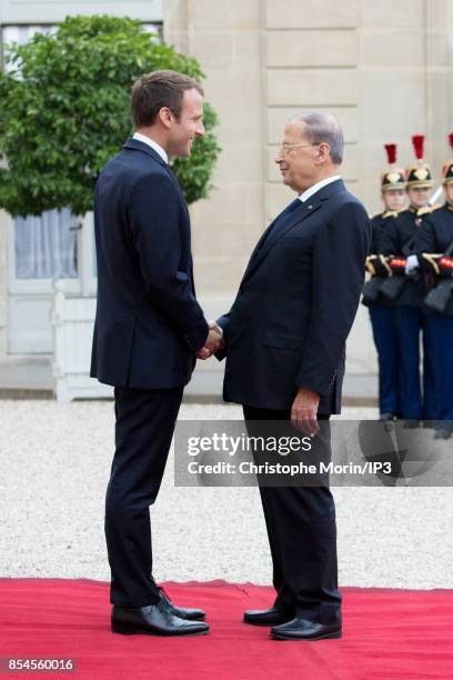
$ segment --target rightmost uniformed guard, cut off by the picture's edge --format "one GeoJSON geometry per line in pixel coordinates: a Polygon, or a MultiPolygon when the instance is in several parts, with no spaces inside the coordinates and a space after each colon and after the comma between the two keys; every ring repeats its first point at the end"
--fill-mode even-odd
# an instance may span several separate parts
{"type": "MultiPolygon", "coordinates": [[[[453,133],[449,139],[453,149],[453,133]]],[[[425,306],[434,342],[435,437],[447,439],[453,422],[453,158],[443,164],[442,183],[445,203],[423,216],[415,247],[432,284],[425,306]]]]}

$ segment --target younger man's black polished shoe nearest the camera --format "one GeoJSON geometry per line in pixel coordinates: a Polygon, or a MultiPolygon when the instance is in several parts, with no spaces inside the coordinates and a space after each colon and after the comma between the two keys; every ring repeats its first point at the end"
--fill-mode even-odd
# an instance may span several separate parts
{"type": "Polygon", "coordinates": [[[187,621],[175,617],[159,600],[148,607],[118,607],[112,609],[112,631],[123,634],[200,636],[209,631],[203,621],[187,621]]]}

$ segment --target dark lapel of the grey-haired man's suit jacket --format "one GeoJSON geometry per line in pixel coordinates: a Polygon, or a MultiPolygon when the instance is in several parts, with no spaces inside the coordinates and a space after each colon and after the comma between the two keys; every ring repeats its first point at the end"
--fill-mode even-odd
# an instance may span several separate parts
{"type": "Polygon", "coordinates": [[[266,238],[278,219],[275,218],[275,220],[271,222],[271,224],[268,227],[268,229],[264,231],[263,236],[259,240],[256,248],[254,249],[252,257],[249,261],[248,268],[242,279],[242,283],[245,281],[245,279],[250,278],[250,276],[261,264],[261,262],[265,259],[269,252],[271,252],[271,250],[275,247],[280,239],[286,236],[292,229],[294,229],[294,227],[300,224],[303,220],[310,218],[318,210],[322,209],[324,207],[324,203],[333,193],[336,193],[338,191],[344,189],[345,187],[343,180],[335,180],[326,187],[323,187],[303,203],[301,201],[301,207],[296,208],[294,212],[289,213],[289,217],[285,219],[285,221],[278,228],[276,233],[270,234],[269,238],[266,238]],[[261,243],[263,244],[262,248],[261,243]]]}

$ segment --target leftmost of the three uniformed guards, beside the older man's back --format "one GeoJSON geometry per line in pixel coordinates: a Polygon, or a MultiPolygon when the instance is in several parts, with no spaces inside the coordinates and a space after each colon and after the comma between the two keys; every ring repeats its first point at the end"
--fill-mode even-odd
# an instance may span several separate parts
{"type": "Polygon", "coordinates": [[[389,273],[385,258],[380,257],[382,232],[406,204],[404,170],[396,168],[396,144],[384,146],[389,167],[381,173],[381,198],[384,211],[371,218],[372,242],[366,269],[371,279],[363,289],[362,303],[369,308],[379,364],[380,420],[402,418],[402,383],[393,302],[380,292],[389,273]]]}

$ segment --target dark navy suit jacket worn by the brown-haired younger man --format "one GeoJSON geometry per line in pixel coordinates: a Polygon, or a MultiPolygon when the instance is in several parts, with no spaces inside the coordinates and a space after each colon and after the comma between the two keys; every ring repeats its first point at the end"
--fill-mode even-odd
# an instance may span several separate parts
{"type": "Polygon", "coordinates": [[[189,382],[208,324],[195,299],[189,212],[148,144],[129,139],[98,179],[91,376],[115,387],[189,382]]]}

